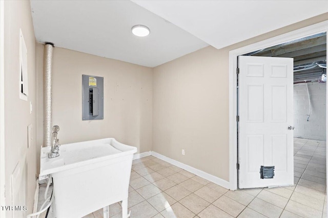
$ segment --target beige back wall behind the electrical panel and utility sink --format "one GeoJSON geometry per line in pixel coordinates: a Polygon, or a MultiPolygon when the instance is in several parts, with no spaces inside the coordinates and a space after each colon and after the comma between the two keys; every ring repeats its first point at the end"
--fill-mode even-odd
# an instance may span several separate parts
{"type": "MultiPolygon", "coordinates": [[[[42,146],[43,44],[37,43],[36,53],[37,145],[42,146]]],[[[152,68],[55,47],[52,93],[53,125],[60,127],[61,144],[114,137],[138,153],[151,151],[152,68]],[[102,120],[82,120],[82,75],[104,77],[102,120]]]]}

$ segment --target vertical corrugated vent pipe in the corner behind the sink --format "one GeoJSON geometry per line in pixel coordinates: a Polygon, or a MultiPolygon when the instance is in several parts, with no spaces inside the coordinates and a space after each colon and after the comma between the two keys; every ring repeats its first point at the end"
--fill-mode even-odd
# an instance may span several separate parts
{"type": "Polygon", "coordinates": [[[52,134],[52,54],[54,45],[45,43],[44,62],[44,147],[51,146],[52,134]]]}

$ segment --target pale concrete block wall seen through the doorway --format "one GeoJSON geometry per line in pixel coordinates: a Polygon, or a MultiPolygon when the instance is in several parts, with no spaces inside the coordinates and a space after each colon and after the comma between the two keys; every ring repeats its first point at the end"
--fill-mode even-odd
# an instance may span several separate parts
{"type": "Polygon", "coordinates": [[[326,83],[308,83],[311,113],[309,121],[309,97],[306,84],[294,85],[294,137],[326,140],[326,83]]]}

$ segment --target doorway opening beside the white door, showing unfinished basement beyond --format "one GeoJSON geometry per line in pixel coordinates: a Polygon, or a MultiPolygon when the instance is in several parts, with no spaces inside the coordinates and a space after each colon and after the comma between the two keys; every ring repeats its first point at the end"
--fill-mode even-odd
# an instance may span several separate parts
{"type": "Polygon", "coordinates": [[[294,58],[294,183],[326,190],[326,32],[244,56],[294,58]]]}

